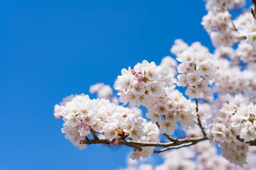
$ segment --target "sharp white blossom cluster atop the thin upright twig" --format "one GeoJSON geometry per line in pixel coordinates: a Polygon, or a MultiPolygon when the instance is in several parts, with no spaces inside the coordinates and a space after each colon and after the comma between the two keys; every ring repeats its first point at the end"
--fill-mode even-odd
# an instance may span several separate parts
{"type": "Polygon", "coordinates": [[[185,94],[189,99],[211,97],[212,90],[208,85],[215,78],[215,58],[204,50],[191,47],[180,53],[177,60],[181,62],[178,66],[178,85],[188,87],[185,94]]]}

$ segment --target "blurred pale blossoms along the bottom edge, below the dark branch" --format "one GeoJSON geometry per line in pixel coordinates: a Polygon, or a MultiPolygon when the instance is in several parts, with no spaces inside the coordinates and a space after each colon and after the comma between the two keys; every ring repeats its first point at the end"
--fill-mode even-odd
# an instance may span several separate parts
{"type": "Polygon", "coordinates": [[[238,167],[234,164],[230,164],[221,155],[218,155],[216,147],[209,143],[209,141],[202,141],[195,146],[189,148],[180,148],[179,150],[173,150],[161,155],[163,157],[163,164],[153,167],[150,164],[144,162],[137,162],[136,160],[127,159],[127,167],[122,170],[168,170],[168,169],[183,169],[183,170],[252,170],[256,166],[256,147],[251,146],[248,150],[248,164],[244,167],[238,167]]]}

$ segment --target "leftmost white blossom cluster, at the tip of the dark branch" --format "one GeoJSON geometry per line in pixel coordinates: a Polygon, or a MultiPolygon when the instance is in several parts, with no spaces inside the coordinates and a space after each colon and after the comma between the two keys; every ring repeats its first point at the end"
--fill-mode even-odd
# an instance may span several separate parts
{"type": "MultiPolygon", "coordinates": [[[[110,103],[107,99],[90,99],[84,94],[68,97],[64,103],[56,104],[54,115],[63,118],[62,132],[65,138],[80,149],[85,148],[80,141],[90,134],[100,134],[100,139],[108,139],[116,145],[118,141],[130,138],[133,141],[159,141],[157,125],[147,122],[138,109],[124,108],[110,103]]],[[[136,152],[136,159],[147,157],[154,147],[145,147],[136,152]]]]}

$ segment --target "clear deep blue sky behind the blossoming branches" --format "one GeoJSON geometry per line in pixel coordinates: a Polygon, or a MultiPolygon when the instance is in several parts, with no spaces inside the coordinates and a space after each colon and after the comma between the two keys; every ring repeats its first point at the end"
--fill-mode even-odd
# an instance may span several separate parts
{"type": "Polygon", "coordinates": [[[65,139],[54,104],[143,59],[159,64],[176,38],[211,48],[205,14],[201,0],[1,1],[0,169],[125,167],[130,148],[65,139]]]}

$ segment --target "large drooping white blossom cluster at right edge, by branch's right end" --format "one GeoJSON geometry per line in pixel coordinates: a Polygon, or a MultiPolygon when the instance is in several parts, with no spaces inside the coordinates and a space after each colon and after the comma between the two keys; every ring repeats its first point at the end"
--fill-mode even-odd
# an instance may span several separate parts
{"type": "Polygon", "coordinates": [[[221,146],[222,154],[234,164],[246,163],[248,145],[256,138],[256,105],[241,94],[229,94],[216,100],[208,137],[221,146]]]}

